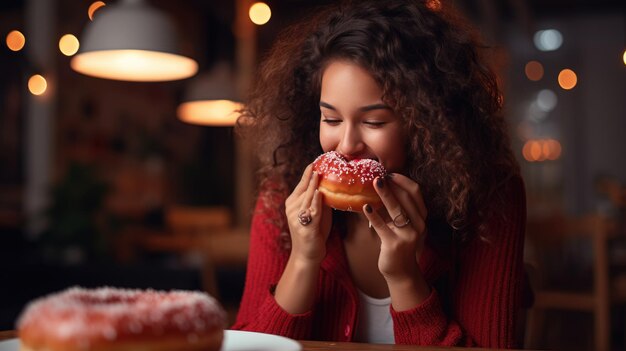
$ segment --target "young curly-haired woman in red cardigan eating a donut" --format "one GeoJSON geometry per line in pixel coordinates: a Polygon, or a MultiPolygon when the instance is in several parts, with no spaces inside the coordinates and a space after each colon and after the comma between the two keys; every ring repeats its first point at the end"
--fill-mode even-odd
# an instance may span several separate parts
{"type": "Polygon", "coordinates": [[[233,329],[516,346],[523,183],[496,79],[443,5],[345,3],[275,44],[240,120],[264,167],[233,329]],[[387,169],[382,208],[323,204],[328,151],[387,169]]]}

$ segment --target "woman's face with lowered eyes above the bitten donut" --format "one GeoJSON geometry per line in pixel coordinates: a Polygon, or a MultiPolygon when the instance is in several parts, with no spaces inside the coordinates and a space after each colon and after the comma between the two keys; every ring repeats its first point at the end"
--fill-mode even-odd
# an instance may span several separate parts
{"type": "Polygon", "coordinates": [[[401,172],[406,160],[402,121],[382,101],[382,89],[369,72],[348,61],[332,61],[322,75],[320,143],[348,160],[377,160],[401,172]]]}

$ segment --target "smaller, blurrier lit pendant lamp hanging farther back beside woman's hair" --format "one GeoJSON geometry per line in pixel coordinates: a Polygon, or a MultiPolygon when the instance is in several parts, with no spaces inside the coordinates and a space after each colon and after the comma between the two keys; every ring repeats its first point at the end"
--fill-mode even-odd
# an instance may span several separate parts
{"type": "Polygon", "coordinates": [[[191,124],[232,126],[242,107],[231,66],[222,61],[189,82],[177,115],[191,124]]]}

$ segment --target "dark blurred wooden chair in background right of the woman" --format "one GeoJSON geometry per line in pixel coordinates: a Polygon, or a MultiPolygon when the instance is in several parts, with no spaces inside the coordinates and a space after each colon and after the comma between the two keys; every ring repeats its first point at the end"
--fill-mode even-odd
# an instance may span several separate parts
{"type": "MultiPolygon", "coordinates": [[[[613,276],[609,260],[609,245],[617,236],[616,229],[613,220],[599,214],[576,218],[553,215],[528,221],[527,249],[534,257],[529,264],[534,270],[531,281],[535,290],[535,302],[528,315],[526,347],[538,347],[540,332],[544,330],[546,310],[572,310],[593,314],[594,350],[610,350],[610,307],[613,302],[626,301],[626,293],[615,286],[623,278],[613,276]],[[549,274],[549,259],[572,243],[582,244],[578,248],[590,248],[590,252],[580,252],[581,256],[578,258],[579,261],[587,260],[591,264],[590,290],[576,291],[565,289],[562,285],[549,284],[549,279],[555,277],[554,274],[549,274]]],[[[561,270],[559,274],[565,276],[568,271],[571,272],[569,269],[561,270]]]]}

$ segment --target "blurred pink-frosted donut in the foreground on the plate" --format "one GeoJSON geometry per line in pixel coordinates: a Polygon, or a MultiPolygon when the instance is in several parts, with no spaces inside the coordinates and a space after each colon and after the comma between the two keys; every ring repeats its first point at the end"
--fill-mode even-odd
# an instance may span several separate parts
{"type": "Polygon", "coordinates": [[[29,303],[17,332],[22,351],[217,351],[225,316],[201,292],[70,288],[29,303]]]}

